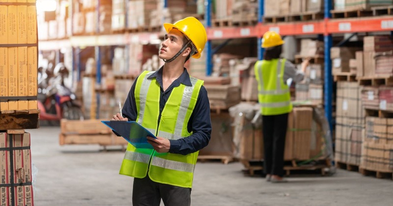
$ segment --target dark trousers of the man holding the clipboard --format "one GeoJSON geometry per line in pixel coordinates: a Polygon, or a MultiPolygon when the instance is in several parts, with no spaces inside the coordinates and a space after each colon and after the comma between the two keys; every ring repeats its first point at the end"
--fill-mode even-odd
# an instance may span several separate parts
{"type": "Polygon", "coordinates": [[[134,178],[133,206],[190,206],[191,188],[177,187],[152,181],[148,175],[134,178]]]}

